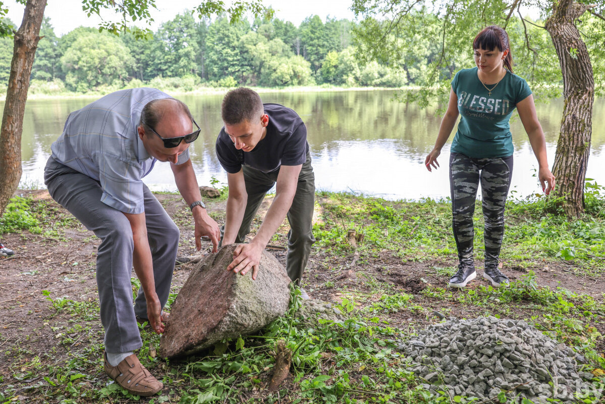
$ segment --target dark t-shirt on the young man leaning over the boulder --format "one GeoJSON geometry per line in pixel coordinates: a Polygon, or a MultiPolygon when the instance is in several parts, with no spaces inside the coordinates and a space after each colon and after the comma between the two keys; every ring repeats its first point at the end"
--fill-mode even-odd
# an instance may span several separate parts
{"type": "Polygon", "coordinates": [[[279,104],[263,104],[269,115],[267,134],[250,151],[237,150],[223,127],[217,137],[217,157],[227,173],[239,173],[242,165],[270,173],[282,165],[307,160],[307,127],[295,111],[279,104]]]}

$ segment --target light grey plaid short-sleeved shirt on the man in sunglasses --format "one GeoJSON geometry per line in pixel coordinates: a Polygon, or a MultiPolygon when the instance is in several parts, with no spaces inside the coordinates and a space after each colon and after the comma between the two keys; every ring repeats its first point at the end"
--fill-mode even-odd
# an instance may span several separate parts
{"type": "MultiPolygon", "coordinates": [[[[125,213],[143,213],[143,182],[157,161],[139,139],[141,110],[149,101],[171,98],[154,88],[132,88],[107,94],[74,111],[59,139],[51,145],[53,158],[97,180],[101,201],[125,213]]],[[[189,160],[189,149],[178,164],[189,160]]]]}

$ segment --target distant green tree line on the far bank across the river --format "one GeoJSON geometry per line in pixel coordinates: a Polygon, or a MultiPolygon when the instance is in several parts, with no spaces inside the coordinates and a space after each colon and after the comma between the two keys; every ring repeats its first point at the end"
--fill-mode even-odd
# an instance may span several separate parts
{"type": "MultiPolygon", "coordinates": [[[[435,18],[433,29],[439,23],[435,18]]],[[[30,91],[105,92],[143,85],[183,91],[200,85],[402,87],[431,79],[430,65],[440,55],[439,44],[429,36],[412,33],[402,38],[414,51],[386,61],[368,58],[370,53],[356,43],[359,30],[359,24],[347,19],[324,22],[316,15],[296,27],[276,18],[235,24],[226,17],[200,21],[186,12],[164,22],[147,40],[90,27],[57,37],[45,18],[30,91]]],[[[538,42],[551,48],[547,54],[554,53],[548,36],[538,42]]],[[[12,53],[12,39],[0,38],[0,91],[8,81],[12,53]]],[[[460,67],[445,68],[442,75],[450,77],[460,67]]],[[[552,78],[548,82],[552,84],[552,78]]]]}

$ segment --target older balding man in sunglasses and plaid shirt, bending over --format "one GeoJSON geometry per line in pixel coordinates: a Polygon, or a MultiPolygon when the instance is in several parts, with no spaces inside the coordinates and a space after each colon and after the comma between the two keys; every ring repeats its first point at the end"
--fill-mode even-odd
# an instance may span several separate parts
{"type": "Polygon", "coordinates": [[[170,162],[195,222],[195,244],[217,223],[201,201],[189,159],[200,128],[189,108],[153,88],[116,91],[70,114],[53,143],[44,181],[54,200],[101,239],[97,254],[100,316],[105,328],[105,371],[134,394],[163,385],[141,365],[137,317],[162,333],[177,254],[179,230],[142,182],[156,161],[170,162]],[[132,305],[131,270],[139,277],[132,305]]]}

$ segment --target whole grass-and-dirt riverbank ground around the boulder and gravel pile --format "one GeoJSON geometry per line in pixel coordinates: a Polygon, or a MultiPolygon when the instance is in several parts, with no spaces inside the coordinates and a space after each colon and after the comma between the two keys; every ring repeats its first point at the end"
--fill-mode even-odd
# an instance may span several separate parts
{"type": "MultiPolygon", "coordinates": [[[[19,194],[23,199],[2,225],[2,242],[16,255],[0,258],[0,402],[139,402],[108,384],[103,373],[94,278],[98,240],[47,191],[19,194]],[[8,222],[14,225],[7,231],[8,222]]],[[[179,255],[194,254],[188,208],[177,194],[156,196],[181,229],[179,255]]],[[[505,290],[494,290],[480,277],[464,290],[445,288],[456,267],[451,205],[445,201],[336,193],[318,193],[316,201],[317,242],[302,283],[314,299],[331,302],[350,320],[312,326],[277,320],[259,336],[244,337],[243,345],[169,362],[154,355],[159,337],[142,330],[139,357],[165,384],[149,402],[465,402],[447,392],[443,401],[425,390],[425,380],[408,369],[401,343],[443,318],[487,315],[526,320],[580,353],[588,362],[581,370],[594,375],[593,396],[586,402],[602,399],[596,395],[605,383],[602,199],[592,199],[592,215],[573,221],[546,213],[541,199],[509,202],[502,271],[512,285],[505,290]],[[350,232],[358,236],[357,247],[350,232]],[[298,350],[290,377],[269,394],[270,350],[278,339],[298,350]]],[[[252,234],[269,204],[270,199],[263,203],[252,234]]],[[[207,205],[224,222],[224,199],[207,205]]],[[[479,272],[480,211],[477,205],[479,272]]],[[[272,245],[286,247],[288,230],[284,222],[272,245]]],[[[285,262],[284,251],[272,253],[285,262]]],[[[171,299],[191,268],[177,267],[171,299]]]]}

